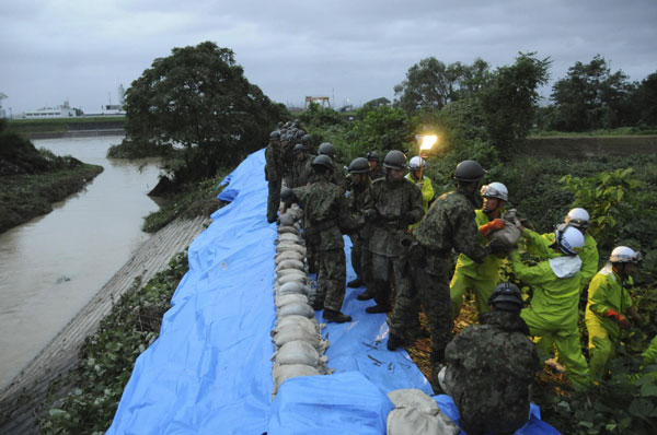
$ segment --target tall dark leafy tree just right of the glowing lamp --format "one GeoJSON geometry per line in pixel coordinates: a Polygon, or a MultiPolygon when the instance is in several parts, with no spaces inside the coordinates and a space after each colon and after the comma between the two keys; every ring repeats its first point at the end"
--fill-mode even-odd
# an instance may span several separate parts
{"type": "Polygon", "coordinates": [[[551,63],[550,58],[534,56],[520,52],[514,64],[499,67],[491,86],[481,92],[486,136],[497,149],[525,139],[532,126],[538,89],[548,82],[551,63]]]}

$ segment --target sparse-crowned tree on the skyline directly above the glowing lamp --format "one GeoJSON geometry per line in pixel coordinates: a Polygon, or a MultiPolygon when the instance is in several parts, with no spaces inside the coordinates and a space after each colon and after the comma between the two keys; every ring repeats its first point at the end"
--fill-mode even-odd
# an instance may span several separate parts
{"type": "Polygon", "coordinates": [[[472,96],[486,86],[488,63],[476,59],[472,66],[461,62],[446,66],[435,57],[422,59],[406,72],[406,80],[394,86],[396,103],[407,111],[445,107],[472,96]]]}

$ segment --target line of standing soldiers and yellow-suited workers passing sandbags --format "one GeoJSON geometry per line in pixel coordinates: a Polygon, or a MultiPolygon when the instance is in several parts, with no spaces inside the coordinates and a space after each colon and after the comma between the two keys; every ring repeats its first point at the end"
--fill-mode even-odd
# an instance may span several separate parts
{"type": "Polygon", "coordinates": [[[630,296],[641,252],[619,246],[598,270],[597,243],[587,234],[590,216],[580,208],[570,210],[546,234],[537,233],[531,224],[505,220],[509,192],[502,183],[482,187],[486,172],[477,162],[461,162],[454,173],[456,189],[435,198],[420,156],[407,162],[393,150],[381,164],[371,151],[350,162],[346,177],[335,146],[322,143],[315,155],[311,139],[298,121],[279,125],[270,133],[265,151],[267,220],[276,221],[281,200],[284,208],[292,202],[301,207],[308,260],[318,273],[314,308],[323,309],[326,320],[351,320],[341,311],[346,281],[343,234],[347,234],[357,273],[347,285],[365,286],[358,299],[374,299],[367,313],[390,313],[388,348],[408,345],[418,337],[417,314],[424,308],[431,362],[441,368],[465,294],[474,295],[479,314],[489,313],[506,259],[516,278],[532,290],[529,305],[525,307],[520,299],[518,313],[534,342],[546,353],[556,349],[575,387],[586,388],[607,375],[622,330],[642,322],[630,296]],[[482,208],[476,205],[477,193],[482,208]],[[519,244],[495,237],[511,225],[521,234],[519,244]],[[539,262],[525,263],[518,245],[539,262]],[[452,252],[458,254],[456,267],[452,252]],[[587,287],[589,363],[578,329],[579,298],[587,287]]]}

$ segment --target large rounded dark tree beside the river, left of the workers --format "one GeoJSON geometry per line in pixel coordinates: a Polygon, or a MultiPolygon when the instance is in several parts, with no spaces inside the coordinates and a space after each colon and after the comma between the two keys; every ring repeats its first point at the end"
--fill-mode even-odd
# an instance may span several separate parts
{"type": "Polygon", "coordinates": [[[286,115],[251,84],[234,54],[215,43],[173,48],[126,91],[126,140],[148,149],[182,146],[176,180],[214,176],[262,148],[286,115]]]}

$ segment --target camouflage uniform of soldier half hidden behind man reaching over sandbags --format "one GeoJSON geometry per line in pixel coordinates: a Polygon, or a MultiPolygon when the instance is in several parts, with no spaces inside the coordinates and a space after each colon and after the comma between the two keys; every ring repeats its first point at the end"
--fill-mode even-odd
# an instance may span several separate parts
{"type": "MultiPolygon", "coordinates": [[[[369,178],[365,178],[365,183],[351,185],[349,190],[349,211],[353,214],[362,215],[365,210],[365,196],[370,187],[369,178]]],[[[371,225],[362,225],[357,232],[349,235],[351,239],[351,266],[356,275],[366,284],[371,285],[372,281],[372,256],[369,251],[368,244],[370,239],[371,225]]]]}

